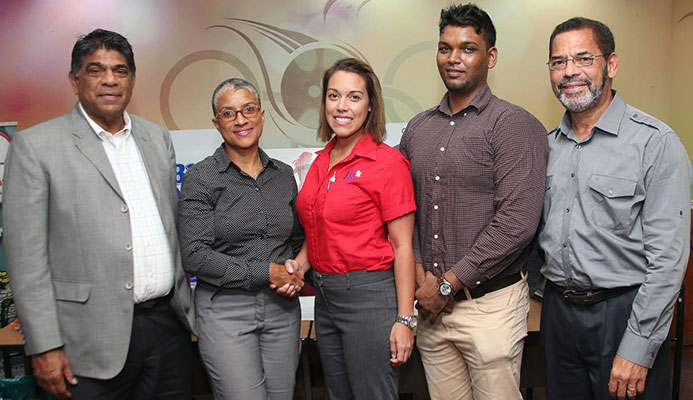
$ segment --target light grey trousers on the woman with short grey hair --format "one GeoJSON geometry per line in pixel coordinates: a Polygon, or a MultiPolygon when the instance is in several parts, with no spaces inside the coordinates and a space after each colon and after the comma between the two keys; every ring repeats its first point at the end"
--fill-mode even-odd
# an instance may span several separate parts
{"type": "Polygon", "coordinates": [[[200,355],[214,398],[291,400],[301,308],[269,289],[250,292],[200,282],[195,290],[200,355]]]}

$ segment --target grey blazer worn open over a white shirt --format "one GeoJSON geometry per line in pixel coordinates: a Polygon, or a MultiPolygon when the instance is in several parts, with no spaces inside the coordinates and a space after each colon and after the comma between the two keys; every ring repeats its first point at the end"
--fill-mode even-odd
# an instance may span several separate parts
{"type": "MultiPolygon", "coordinates": [[[[163,127],[131,118],[174,252],[171,303],[193,331],[175,226],[173,144],[163,127]]],[[[12,138],[3,185],[4,244],[27,354],[64,346],[73,372],[91,378],[109,379],[123,368],[134,308],[124,204],[103,145],[78,106],[12,138]]]]}

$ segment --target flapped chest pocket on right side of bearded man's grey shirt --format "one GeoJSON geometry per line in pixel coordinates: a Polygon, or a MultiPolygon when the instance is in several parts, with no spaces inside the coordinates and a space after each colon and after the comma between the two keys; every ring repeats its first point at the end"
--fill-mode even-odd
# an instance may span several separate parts
{"type": "Polygon", "coordinates": [[[600,227],[622,230],[632,224],[635,203],[635,181],[608,175],[593,174],[589,179],[592,222],[600,227]]]}

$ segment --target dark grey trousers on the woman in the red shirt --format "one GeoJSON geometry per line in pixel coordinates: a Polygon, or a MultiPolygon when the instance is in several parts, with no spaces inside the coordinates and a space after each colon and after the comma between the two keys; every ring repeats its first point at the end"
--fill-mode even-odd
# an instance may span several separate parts
{"type": "Polygon", "coordinates": [[[397,316],[393,270],[313,272],[315,332],[330,400],[397,399],[390,363],[397,316]]]}

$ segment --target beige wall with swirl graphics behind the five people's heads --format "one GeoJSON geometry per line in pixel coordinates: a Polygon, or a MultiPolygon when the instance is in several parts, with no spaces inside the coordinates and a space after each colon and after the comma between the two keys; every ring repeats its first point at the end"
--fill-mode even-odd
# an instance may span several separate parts
{"type": "MultiPolygon", "coordinates": [[[[129,110],[171,129],[212,128],[209,97],[221,80],[258,83],[263,146],[317,145],[319,79],[335,57],[371,63],[390,122],[406,122],[444,93],[434,57],[448,0],[63,0],[2,2],[0,121],[19,128],[68,110],[69,52],[78,33],[119,31],[138,66],[129,110]],[[235,19],[233,19],[235,18],[235,19]]],[[[495,94],[552,128],[563,109],[549,83],[548,37],[585,16],[609,25],[621,60],[614,87],[669,123],[691,149],[693,0],[480,0],[498,30],[495,94]]]]}

